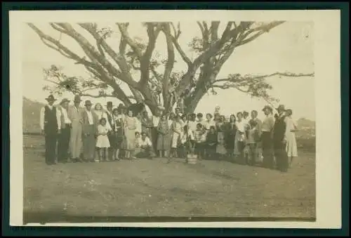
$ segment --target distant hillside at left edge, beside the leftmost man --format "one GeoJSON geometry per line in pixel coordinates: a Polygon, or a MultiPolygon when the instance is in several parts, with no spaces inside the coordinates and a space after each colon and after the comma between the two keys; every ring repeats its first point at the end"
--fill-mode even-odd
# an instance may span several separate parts
{"type": "Polygon", "coordinates": [[[22,105],[22,126],[23,133],[39,133],[39,117],[43,103],[35,102],[23,97],[22,105]]]}

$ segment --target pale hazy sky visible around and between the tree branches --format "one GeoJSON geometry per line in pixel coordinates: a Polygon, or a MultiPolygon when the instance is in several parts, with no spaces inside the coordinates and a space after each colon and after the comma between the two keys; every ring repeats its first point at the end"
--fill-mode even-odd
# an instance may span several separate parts
{"type": "MultiPolygon", "coordinates": [[[[44,32],[51,34],[56,39],[60,34],[55,32],[47,23],[36,23],[44,32]]],[[[221,23],[222,32],[225,22],[221,23]]],[[[76,25],[74,25],[76,26],[76,25]]],[[[110,26],[118,31],[114,23],[99,22],[99,27],[110,26]]],[[[27,25],[22,29],[22,80],[23,95],[29,99],[45,102],[48,92],[42,91],[43,86],[48,84],[43,79],[42,69],[50,65],[61,65],[65,68],[65,73],[72,75],[85,75],[84,69],[74,65],[57,51],[45,46],[37,34],[27,25]]],[[[180,36],[180,45],[190,56],[192,55],[187,44],[190,39],[199,36],[199,28],[196,22],[180,22],[182,34],[180,36]]],[[[92,38],[80,27],[76,27],[81,34],[88,39],[92,38]]],[[[227,77],[228,74],[269,74],[272,72],[296,72],[311,73],[314,72],[314,34],[313,22],[286,22],[272,29],[269,33],[262,35],[255,41],[237,48],[232,56],[225,62],[220,70],[219,78],[227,77]]],[[[146,40],[146,31],[141,24],[132,23],[129,27],[131,37],[140,37],[146,40]]],[[[74,40],[62,35],[61,42],[72,51],[83,55],[81,48],[74,40]]],[[[94,41],[91,41],[92,43],[94,41]]],[[[113,34],[107,41],[110,46],[118,47],[119,34],[113,34]]],[[[164,35],[160,34],[157,41],[156,51],[161,56],[166,57],[164,35]]],[[[175,70],[186,70],[185,64],[176,53],[177,63],[175,70]]],[[[138,78],[138,75],[135,75],[138,78]]],[[[314,119],[314,79],[312,77],[301,78],[270,78],[273,86],[271,95],[279,98],[280,103],[293,109],[296,118],[307,117],[314,119]]],[[[70,93],[63,97],[72,98],[70,93]]],[[[86,98],[83,98],[86,100],[86,98]]],[[[93,102],[105,103],[110,99],[93,99],[93,102]]],[[[119,103],[113,99],[114,103],[119,103]]],[[[241,93],[234,88],[218,91],[218,95],[211,93],[205,95],[200,101],[197,112],[213,112],[213,108],[220,105],[224,114],[232,114],[239,110],[261,110],[265,101],[251,98],[249,95],[241,93]]]]}

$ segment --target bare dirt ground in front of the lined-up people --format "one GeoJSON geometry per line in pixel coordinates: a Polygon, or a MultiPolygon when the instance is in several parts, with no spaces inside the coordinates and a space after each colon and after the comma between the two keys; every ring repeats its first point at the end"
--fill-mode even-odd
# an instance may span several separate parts
{"type": "Polygon", "coordinates": [[[44,139],[36,135],[24,135],[23,150],[29,223],[39,213],[55,222],[65,216],[315,218],[314,153],[300,151],[289,172],[281,173],[182,159],[47,166],[44,139]]]}

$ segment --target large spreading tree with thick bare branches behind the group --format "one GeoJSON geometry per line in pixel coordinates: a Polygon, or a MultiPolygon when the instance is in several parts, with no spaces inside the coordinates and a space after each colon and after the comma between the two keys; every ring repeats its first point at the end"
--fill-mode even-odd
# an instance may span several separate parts
{"type": "Polygon", "coordinates": [[[51,86],[46,86],[46,89],[54,93],[67,90],[93,98],[115,97],[127,106],[133,102],[144,103],[153,113],[159,105],[169,112],[176,103],[180,103],[185,112],[194,112],[204,94],[208,91],[216,93],[216,88],[237,88],[270,103],[274,98],[268,93],[272,86],[267,83],[267,77],[312,76],[313,73],[272,72],[267,75],[233,73],[225,79],[218,79],[221,67],[235,48],[249,44],[283,23],[283,21],[227,22],[223,33],[220,34],[219,21],[197,22],[201,37],[194,37],[189,44],[196,55],[194,59],[190,58],[179,44],[181,34],[179,23],[175,25],[173,22],[143,22],[147,42],[131,37],[128,34],[128,23],[116,23],[118,32],[110,28],[100,29],[96,23],[91,22],[78,23],[76,28],[67,22],[49,23],[55,31],[60,32],[60,36],[67,35],[74,39],[85,55],[79,55],[72,48],[67,48],[60,39],[42,32],[36,25],[32,23],[28,25],[46,46],[74,60],[77,65],[83,65],[91,75],[88,78],[69,76],[63,73],[60,67],[52,65],[44,70],[46,80],[52,83],[51,86]],[[88,32],[94,40],[88,41],[77,31],[77,27],[88,32]],[[120,34],[119,48],[112,48],[107,43],[107,39],[114,33],[120,34]],[[160,34],[164,34],[166,41],[166,59],[163,60],[155,51],[160,34]],[[176,53],[185,62],[185,71],[174,70],[176,53]],[[130,89],[132,95],[126,93],[125,87],[130,89]]]}

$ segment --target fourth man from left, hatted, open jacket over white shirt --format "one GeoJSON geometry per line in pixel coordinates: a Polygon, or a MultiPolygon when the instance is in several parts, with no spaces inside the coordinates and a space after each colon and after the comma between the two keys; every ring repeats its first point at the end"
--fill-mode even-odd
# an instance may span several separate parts
{"type": "Polygon", "coordinates": [[[86,100],[83,118],[83,155],[84,161],[95,160],[95,133],[98,125],[98,115],[91,110],[91,101],[86,100]]]}

